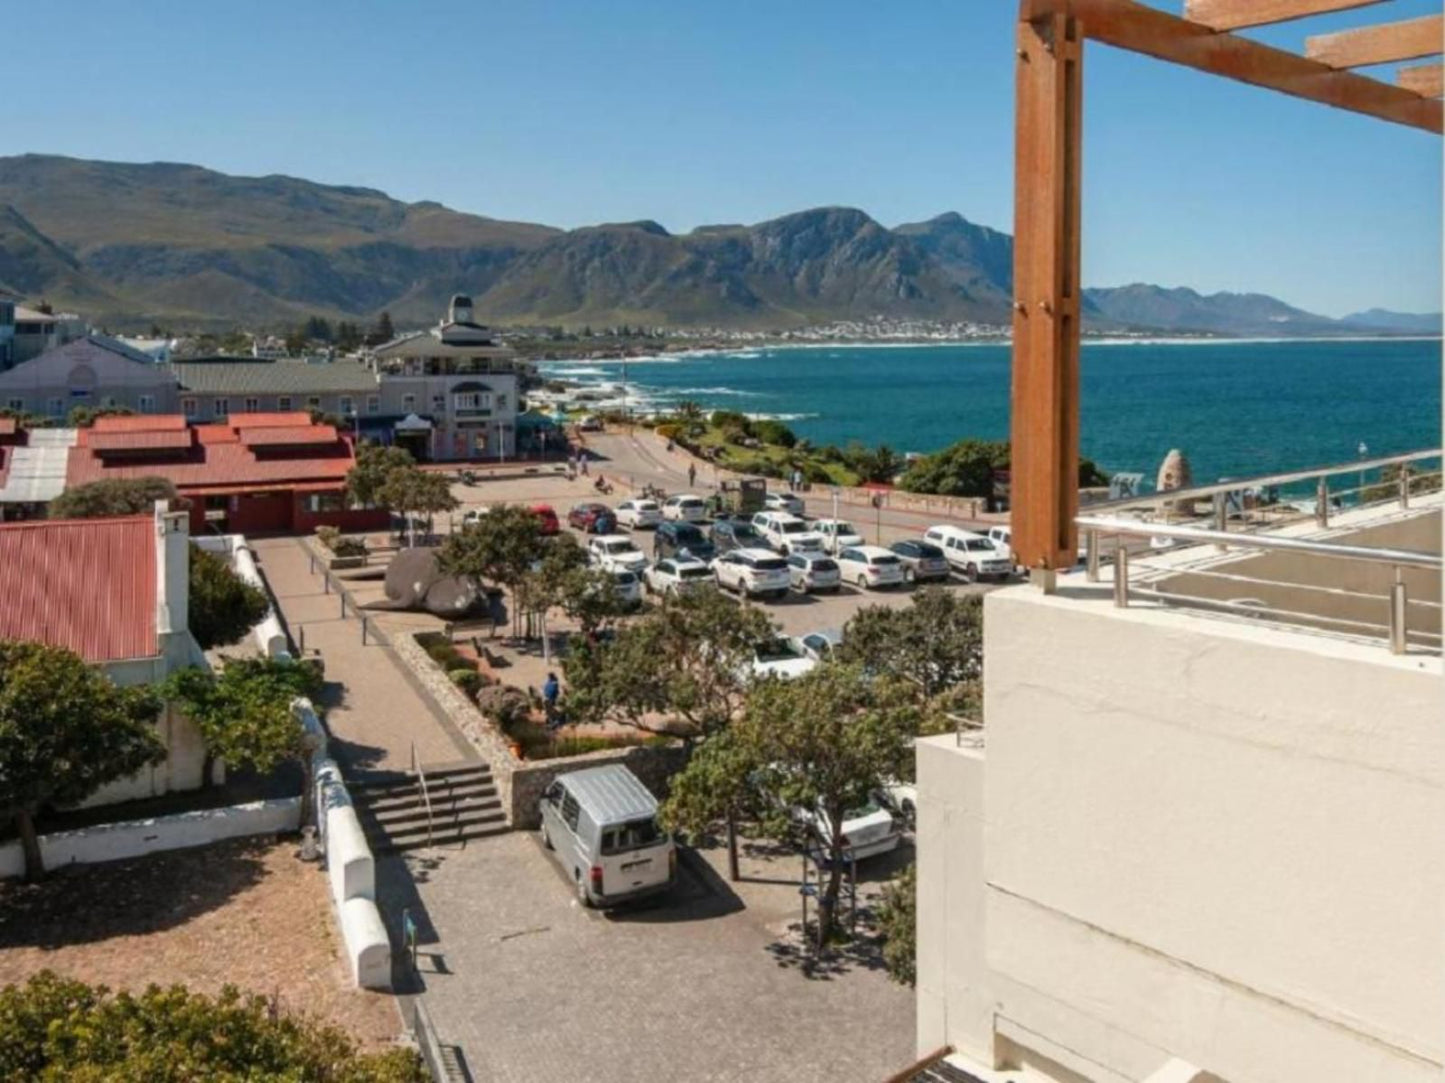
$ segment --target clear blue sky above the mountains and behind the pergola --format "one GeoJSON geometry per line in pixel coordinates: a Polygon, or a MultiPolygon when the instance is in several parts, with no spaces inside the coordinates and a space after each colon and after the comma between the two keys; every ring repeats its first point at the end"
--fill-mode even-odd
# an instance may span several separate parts
{"type": "MultiPolygon", "coordinates": [[[[6,51],[0,153],[282,172],[556,226],[847,204],[1012,228],[1013,0],[43,7],[58,46],[6,51]]],[[[35,26],[19,0],[0,16],[35,26]]],[[[1087,283],[1439,308],[1438,137],[1104,46],[1085,78],[1087,283]]]]}

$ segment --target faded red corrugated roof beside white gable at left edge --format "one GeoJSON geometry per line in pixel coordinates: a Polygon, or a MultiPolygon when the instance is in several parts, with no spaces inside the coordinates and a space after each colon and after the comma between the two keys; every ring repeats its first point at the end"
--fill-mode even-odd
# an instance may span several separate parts
{"type": "Polygon", "coordinates": [[[155,521],[0,526],[0,599],[3,639],[64,646],[87,662],[156,655],[155,521]]]}

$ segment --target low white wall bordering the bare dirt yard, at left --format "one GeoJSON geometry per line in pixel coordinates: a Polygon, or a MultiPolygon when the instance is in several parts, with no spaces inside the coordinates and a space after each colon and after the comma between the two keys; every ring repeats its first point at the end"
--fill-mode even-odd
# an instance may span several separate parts
{"type": "MultiPolygon", "coordinates": [[[[251,801],[228,808],[205,808],[195,813],[162,816],[153,820],[129,820],[100,824],[75,831],[40,836],[45,868],[92,865],[123,857],[140,857],[160,850],[182,850],[207,846],[221,839],[247,834],[276,834],[296,830],[301,800],[295,797],[251,801]]],[[[25,856],[19,842],[0,846],[0,878],[20,876],[25,856]]]]}

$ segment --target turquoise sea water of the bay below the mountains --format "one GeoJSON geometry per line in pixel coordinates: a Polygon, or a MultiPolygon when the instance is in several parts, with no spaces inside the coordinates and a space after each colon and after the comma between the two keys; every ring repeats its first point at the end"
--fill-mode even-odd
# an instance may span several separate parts
{"type": "MultiPolygon", "coordinates": [[[[620,361],[558,361],[558,377],[618,385],[620,361]]],[[[788,421],[814,442],[935,451],[1009,435],[1007,346],[744,350],[631,360],[629,401],[694,399],[788,421]]],[[[1150,480],[1181,448],[1198,481],[1441,442],[1441,343],[1091,343],[1084,347],[1082,451],[1150,480]]]]}

